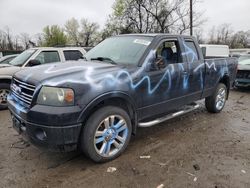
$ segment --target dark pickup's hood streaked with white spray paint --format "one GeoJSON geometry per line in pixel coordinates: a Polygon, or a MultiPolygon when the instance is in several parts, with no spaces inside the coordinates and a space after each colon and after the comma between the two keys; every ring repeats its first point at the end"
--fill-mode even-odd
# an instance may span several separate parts
{"type": "Polygon", "coordinates": [[[98,79],[104,74],[117,72],[122,66],[112,65],[105,62],[72,61],[64,63],[53,63],[21,70],[14,77],[22,81],[38,85],[50,83],[58,85],[65,81],[86,81],[88,78],[98,79]]]}

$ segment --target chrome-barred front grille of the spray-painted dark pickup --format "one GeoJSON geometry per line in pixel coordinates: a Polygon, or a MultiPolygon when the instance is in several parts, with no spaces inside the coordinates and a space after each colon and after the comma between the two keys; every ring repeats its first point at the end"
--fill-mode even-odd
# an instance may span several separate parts
{"type": "Polygon", "coordinates": [[[31,105],[35,89],[36,86],[34,85],[25,83],[16,78],[12,80],[11,91],[13,96],[28,106],[31,105]]]}

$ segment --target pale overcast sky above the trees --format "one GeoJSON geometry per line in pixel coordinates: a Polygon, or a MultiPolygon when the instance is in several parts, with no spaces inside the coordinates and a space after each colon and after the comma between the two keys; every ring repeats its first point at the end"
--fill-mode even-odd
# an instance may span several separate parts
{"type": "MultiPolygon", "coordinates": [[[[0,29],[36,34],[46,25],[64,23],[75,17],[104,25],[115,0],[0,0],[0,29]]],[[[250,30],[250,0],[203,0],[197,9],[208,19],[204,30],[229,23],[234,30],[250,30]]]]}

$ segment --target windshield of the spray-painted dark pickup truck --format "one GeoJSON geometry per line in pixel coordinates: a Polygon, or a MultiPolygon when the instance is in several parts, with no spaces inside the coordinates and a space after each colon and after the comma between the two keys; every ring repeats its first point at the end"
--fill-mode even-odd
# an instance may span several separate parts
{"type": "Polygon", "coordinates": [[[120,36],[104,40],[90,50],[85,58],[114,64],[137,65],[153,37],[120,36]]]}

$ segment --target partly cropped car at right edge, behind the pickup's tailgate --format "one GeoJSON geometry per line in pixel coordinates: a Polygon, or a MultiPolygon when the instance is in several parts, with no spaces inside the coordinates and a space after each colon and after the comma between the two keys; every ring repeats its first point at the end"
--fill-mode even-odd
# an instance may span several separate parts
{"type": "Polygon", "coordinates": [[[239,57],[238,71],[235,80],[235,87],[250,87],[250,54],[239,57]]]}

